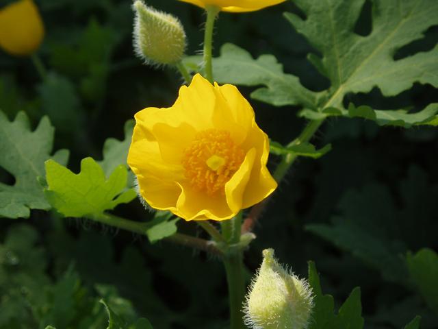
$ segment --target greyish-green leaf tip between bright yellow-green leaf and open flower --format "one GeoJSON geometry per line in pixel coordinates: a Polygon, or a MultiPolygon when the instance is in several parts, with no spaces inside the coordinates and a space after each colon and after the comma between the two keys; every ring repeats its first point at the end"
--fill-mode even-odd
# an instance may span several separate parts
{"type": "Polygon", "coordinates": [[[110,177],[111,173],[119,164],[127,164],[129,146],[131,145],[132,132],[136,121],[128,120],[125,123],[125,140],[118,141],[116,138],[107,138],[103,144],[103,160],[96,161],[105,171],[105,176],[110,177]]]}

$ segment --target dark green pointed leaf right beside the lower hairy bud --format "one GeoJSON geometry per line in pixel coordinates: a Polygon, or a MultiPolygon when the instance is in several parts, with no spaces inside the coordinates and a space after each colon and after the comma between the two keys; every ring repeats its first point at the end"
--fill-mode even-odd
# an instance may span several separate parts
{"type": "Polygon", "coordinates": [[[363,328],[361,290],[359,287],[353,289],[348,299],[339,309],[337,315],[334,314],[334,303],[331,295],[322,295],[320,279],[316,271],[315,263],[309,261],[309,284],[313,291],[313,313],[309,329],[335,329],[363,328]]]}

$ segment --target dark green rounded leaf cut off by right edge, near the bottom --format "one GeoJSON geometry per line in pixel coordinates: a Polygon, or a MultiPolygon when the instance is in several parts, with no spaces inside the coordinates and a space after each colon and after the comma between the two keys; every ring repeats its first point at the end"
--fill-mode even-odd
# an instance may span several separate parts
{"type": "Polygon", "coordinates": [[[438,254],[427,248],[415,256],[408,252],[407,265],[424,299],[438,315],[438,254]]]}

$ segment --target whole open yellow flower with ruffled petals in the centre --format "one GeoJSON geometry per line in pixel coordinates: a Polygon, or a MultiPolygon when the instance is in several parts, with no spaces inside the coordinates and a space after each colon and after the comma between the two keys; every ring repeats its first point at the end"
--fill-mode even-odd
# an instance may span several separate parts
{"type": "Polygon", "coordinates": [[[274,191],[268,155],[268,136],[239,90],[197,74],[171,108],[136,114],[128,164],[149,206],[221,221],[274,191]]]}

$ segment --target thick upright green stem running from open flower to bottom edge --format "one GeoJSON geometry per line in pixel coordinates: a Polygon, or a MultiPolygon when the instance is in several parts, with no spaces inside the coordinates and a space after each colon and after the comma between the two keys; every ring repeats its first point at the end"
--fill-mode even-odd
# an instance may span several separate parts
{"type": "Polygon", "coordinates": [[[227,282],[230,300],[231,329],[246,328],[243,321],[242,306],[246,295],[244,264],[240,243],[240,228],[242,226],[242,211],[232,219],[220,222],[222,236],[227,241],[228,248],[222,260],[227,271],[227,282]]]}

